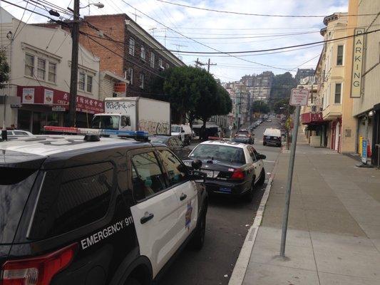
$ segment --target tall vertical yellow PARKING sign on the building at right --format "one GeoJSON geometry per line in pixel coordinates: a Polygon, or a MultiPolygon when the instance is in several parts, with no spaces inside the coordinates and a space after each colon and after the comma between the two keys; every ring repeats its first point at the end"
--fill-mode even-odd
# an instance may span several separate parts
{"type": "Polygon", "coordinates": [[[364,28],[355,28],[354,52],[352,54],[351,98],[361,96],[361,68],[364,60],[364,28]]]}

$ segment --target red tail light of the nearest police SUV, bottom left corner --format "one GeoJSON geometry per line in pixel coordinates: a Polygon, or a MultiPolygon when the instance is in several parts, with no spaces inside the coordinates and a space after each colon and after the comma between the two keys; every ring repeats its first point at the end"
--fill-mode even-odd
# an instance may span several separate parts
{"type": "Polygon", "coordinates": [[[30,259],[6,261],[1,285],[48,285],[59,271],[73,260],[78,244],[71,244],[51,254],[30,259]]]}

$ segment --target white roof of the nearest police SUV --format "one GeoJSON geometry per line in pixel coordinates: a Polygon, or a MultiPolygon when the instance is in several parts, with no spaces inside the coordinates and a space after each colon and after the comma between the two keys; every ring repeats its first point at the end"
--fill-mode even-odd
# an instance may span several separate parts
{"type": "Polygon", "coordinates": [[[138,142],[125,138],[101,138],[97,142],[83,140],[83,135],[36,135],[34,137],[19,137],[3,141],[0,150],[10,150],[31,155],[52,156],[62,152],[88,152],[91,148],[110,149],[135,145],[150,145],[148,142],[138,142]]]}

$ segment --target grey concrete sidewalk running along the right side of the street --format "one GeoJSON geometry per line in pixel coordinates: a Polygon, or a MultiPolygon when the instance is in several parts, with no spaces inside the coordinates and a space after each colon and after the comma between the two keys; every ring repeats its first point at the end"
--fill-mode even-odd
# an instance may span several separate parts
{"type": "Polygon", "coordinates": [[[289,228],[278,257],[289,153],[279,155],[245,285],[380,284],[380,171],[297,144],[289,228]],[[277,256],[277,257],[276,257],[277,256]]]}

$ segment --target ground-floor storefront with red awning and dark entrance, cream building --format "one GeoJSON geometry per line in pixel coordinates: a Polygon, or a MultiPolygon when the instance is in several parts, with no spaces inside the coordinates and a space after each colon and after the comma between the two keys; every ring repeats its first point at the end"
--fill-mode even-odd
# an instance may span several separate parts
{"type": "MultiPolygon", "coordinates": [[[[70,95],[44,86],[18,86],[21,98],[16,128],[41,134],[44,125],[63,126],[68,115],[70,95]]],[[[76,98],[76,126],[87,128],[93,114],[103,113],[103,101],[78,95],[76,98]]]]}

